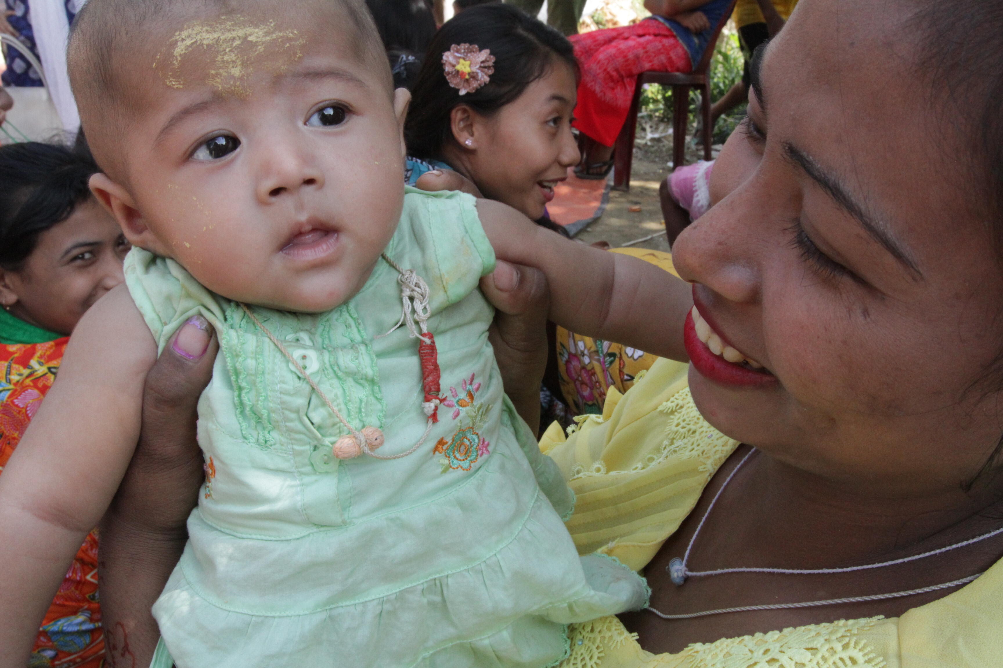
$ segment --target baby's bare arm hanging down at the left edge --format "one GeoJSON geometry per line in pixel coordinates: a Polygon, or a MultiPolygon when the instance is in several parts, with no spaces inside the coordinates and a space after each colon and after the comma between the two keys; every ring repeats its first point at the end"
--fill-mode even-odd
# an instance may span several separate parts
{"type": "Polygon", "coordinates": [[[139,435],[156,345],[124,285],[95,303],[0,476],[0,668],[23,668],[38,625],[107,508],[139,435]]]}

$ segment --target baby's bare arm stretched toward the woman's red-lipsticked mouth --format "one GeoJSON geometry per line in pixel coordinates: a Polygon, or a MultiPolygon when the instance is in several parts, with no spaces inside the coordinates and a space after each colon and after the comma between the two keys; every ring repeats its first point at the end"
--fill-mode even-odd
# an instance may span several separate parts
{"type": "Polygon", "coordinates": [[[489,199],[477,212],[495,254],[547,274],[550,316],[577,333],[686,361],[689,284],[644,260],[593,248],[534,224],[489,199]]]}

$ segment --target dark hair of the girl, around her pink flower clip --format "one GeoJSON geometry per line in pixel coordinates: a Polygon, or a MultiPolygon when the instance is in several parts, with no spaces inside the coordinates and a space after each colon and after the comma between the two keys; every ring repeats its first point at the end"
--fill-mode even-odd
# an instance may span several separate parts
{"type": "Polygon", "coordinates": [[[479,5],[464,10],[439,28],[411,88],[411,108],[404,123],[408,154],[441,157],[452,141],[449,115],[465,104],[489,116],[514,102],[527,87],[545,76],[554,60],[567,63],[578,76],[575,50],[568,38],[512,5],[479,5]],[[453,44],[476,44],[494,56],[490,81],[460,97],[442,70],[442,54],[453,44]]]}

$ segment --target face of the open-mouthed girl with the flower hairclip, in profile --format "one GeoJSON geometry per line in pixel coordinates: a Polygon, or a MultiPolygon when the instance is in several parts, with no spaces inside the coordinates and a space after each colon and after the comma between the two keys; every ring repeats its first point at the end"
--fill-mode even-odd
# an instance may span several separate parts
{"type": "Polygon", "coordinates": [[[544,206],[554,199],[554,186],[579,161],[571,133],[576,95],[575,73],[555,61],[497,113],[473,114],[473,145],[461,151],[470,179],[485,197],[534,220],[543,216],[544,206]]]}

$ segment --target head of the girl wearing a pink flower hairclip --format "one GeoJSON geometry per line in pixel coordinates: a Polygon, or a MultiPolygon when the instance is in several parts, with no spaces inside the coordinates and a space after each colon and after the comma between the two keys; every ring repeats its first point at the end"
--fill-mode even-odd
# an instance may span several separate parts
{"type": "Polygon", "coordinates": [[[464,190],[563,232],[546,206],[579,161],[578,65],[558,31],[515,7],[470,7],[432,39],[404,126],[408,184],[464,190]],[[420,179],[420,181],[419,181],[420,179]]]}

